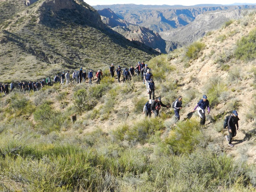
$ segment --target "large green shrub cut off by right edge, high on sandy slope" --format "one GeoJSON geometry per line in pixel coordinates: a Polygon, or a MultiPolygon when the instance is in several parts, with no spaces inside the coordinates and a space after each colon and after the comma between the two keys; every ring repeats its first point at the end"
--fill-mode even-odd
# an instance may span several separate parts
{"type": "Polygon", "coordinates": [[[248,61],[256,58],[256,29],[250,31],[248,36],[243,36],[236,43],[234,55],[237,59],[248,61]]]}

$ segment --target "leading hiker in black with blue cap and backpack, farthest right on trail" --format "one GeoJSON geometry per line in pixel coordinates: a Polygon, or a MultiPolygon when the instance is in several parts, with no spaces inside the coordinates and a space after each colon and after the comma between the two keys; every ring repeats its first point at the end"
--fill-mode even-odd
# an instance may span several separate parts
{"type": "Polygon", "coordinates": [[[231,147],[234,147],[234,145],[231,143],[232,138],[236,136],[236,131],[239,129],[238,121],[238,113],[236,110],[233,110],[232,115],[228,117],[228,135],[225,136],[226,140],[228,141],[228,145],[231,147]]]}

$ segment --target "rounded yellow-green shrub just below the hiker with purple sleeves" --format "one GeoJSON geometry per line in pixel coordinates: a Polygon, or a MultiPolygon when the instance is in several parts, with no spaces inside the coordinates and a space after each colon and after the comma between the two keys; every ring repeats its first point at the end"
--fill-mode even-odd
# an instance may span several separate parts
{"type": "Polygon", "coordinates": [[[200,124],[195,119],[178,122],[165,142],[175,154],[191,153],[201,140],[200,129],[200,124]]]}

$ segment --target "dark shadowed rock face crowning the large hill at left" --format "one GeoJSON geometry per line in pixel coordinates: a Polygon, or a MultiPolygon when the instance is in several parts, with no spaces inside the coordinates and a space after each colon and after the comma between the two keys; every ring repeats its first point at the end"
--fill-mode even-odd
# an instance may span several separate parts
{"type": "Polygon", "coordinates": [[[80,0],[46,0],[40,8],[39,23],[59,27],[62,24],[77,23],[104,29],[99,13],[80,0]]]}

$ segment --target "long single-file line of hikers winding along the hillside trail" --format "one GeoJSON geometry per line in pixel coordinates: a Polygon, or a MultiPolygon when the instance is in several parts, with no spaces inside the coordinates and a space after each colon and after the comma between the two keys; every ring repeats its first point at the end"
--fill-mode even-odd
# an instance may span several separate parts
{"type": "MultiPolygon", "coordinates": [[[[149,94],[149,100],[147,101],[147,103],[145,104],[144,108],[143,108],[143,113],[145,114],[146,117],[151,117],[151,114],[154,113],[155,117],[157,117],[159,115],[159,110],[161,109],[161,107],[166,107],[169,108],[169,105],[165,105],[162,103],[161,97],[158,97],[157,99],[155,99],[155,83],[153,81],[153,74],[151,73],[152,69],[150,69],[147,64],[145,64],[143,61],[142,62],[138,62],[138,64],[133,67],[133,65],[131,65],[131,67],[125,68],[125,69],[121,69],[120,66],[118,66],[118,68],[114,67],[114,64],[112,63],[111,66],[109,67],[109,73],[111,75],[111,77],[114,77],[114,75],[116,74],[117,76],[117,81],[118,83],[120,83],[120,78],[121,75],[123,75],[122,77],[122,81],[128,82],[131,80],[132,76],[134,77],[135,74],[138,77],[141,77],[141,80],[143,81],[143,84],[146,84],[146,90],[147,93],[149,94]]],[[[103,77],[103,73],[102,70],[98,70],[96,73],[96,84],[99,84],[101,81],[101,78],[103,77]]],[[[81,67],[79,70],[74,70],[74,72],[72,73],[72,81],[73,83],[85,83],[86,79],[89,80],[89,84],[92,84],[92,80],[93,80],[93,70],[89,70],[88,74],[86,73],[85,70],[83,70],[83,68],[81,67]]],[[[62,72],[62,74],[60,76],[58,76],[58,74],[54,77],[54,81],[53,83],[60,83],[61,85],[64,84],[64,81],[66,80],[66,85],[70,83],[70,71],[68,70],[66,73],[62,72]]],[[[38,82],[31,82],[29,81],[29,83],[26,82],[20,82],[18,83],[19,86],[19,90],[25,92],[26,90],[28,90],[29,92],[31,90],[33,91],[38,91],[40,88],[43,88],[45,85],[51,86],[52,81],[50,76],[48,76],[46,79],[42,79],[42,81],[38,81],[38,82]]],[[[10,92],[12,92],[14,90],[14,82],[10,83],[10,92]]],[[[4,94],[9,94],[9,84],[1,84],[0,83],[0,93],[4,93],[4,94]]],[[[175,117],[177,119],[177,121],[180,120],[180,115],[179,112],[182,109],[182,96],[179,96],[173,103],[172,103],[172,108],[174,109],[174,113],[175,113],[175,117]]],[[[203,98],[198,102],[198,104],[195,106],[195,108],[192,110],[192,112],[194,112],[196,109],[198,111],[198,115],[200,116],[201,120],[200,120],[200,125],[204,126],[205,125],[205,120],[206,120],[206,116],[205,116],[205,109],[207,108],[207,114],[210,113],[210,106],[209,106],[209,101],[207,100],[207,96],[203,95],[203,98]]],[[[238,113],[236,110],[232,111],[232,114],[230,114],[229,116],[227,116],[225,118],[223,127],[224,128],[228,128],[228,135],[225,136],[226,140],[228,141],[228,145],[230,145],[231,147],[233,147],[234,145],[231,143],[232,142],[232,138],[234,136],[236,136],[236,130],[239,129],[238,126],[238,113]]]]}

